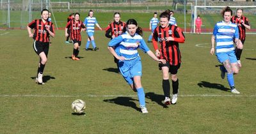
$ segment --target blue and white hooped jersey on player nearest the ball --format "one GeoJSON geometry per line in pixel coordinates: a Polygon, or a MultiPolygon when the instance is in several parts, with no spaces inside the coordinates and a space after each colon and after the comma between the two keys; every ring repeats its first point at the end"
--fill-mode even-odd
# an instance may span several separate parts
{"type": "Polygon", "coordinates": [[[139,34],[136,33],[134,36],[131,36],[127,31],[109,41],[108,46],[115,46],[116,54],[118,56],[124,56],[125,60],[139,57],[138,48],[143,50],[143,52],[148,52],[150,50],[139,34]]]}

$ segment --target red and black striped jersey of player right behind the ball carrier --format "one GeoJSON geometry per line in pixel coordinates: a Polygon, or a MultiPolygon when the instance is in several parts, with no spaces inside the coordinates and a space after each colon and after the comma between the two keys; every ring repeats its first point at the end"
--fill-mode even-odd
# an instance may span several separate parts
{"type": "Polygon", "coordinates": [[[185,36],[180,27],[169,25],[165,28],[157,26],[153,33],[153,45],[155,50],[159,50],[160,59],[165,59],[172,66],[177,66],[181,63],[181,55],[179,43],[184,43],[185,36]],[[174,38],[174,41],[166,41],[168,37],[174,38]],[[160,49],[157,45],[157,40],[160,41],[160,49]]]}

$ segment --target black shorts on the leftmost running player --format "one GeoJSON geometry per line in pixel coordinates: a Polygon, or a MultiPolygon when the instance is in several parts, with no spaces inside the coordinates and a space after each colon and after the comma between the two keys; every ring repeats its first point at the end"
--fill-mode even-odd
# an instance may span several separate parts
{"type": "Polygon", "coordinates": [[[37,55],[39,55],[41,52],[44,52],[44,54],[48,55],[49,52],[49,42],[41,42],[41,41],[34,41],[33,48],[37,55]]]}

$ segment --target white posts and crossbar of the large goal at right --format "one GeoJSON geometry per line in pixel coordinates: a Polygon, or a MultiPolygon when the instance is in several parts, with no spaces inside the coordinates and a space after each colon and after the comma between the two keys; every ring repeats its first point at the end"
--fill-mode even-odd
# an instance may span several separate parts
{"type": "MultiPolygon", "coordinates": [[[[196,31],[196,26],[195,26],[195,22],[196,22],[196,17],[197,17],[197,8],[225,8],[227,6],[195,6],[194,7],[194,24],[193,24],[193,33],[195,33],[196,31]]],[[[229,6],[230,8],[255,8],[256,6],[229,6]]],[[[213,27],[213,26],[212,26],[213,27]]],[[[205,34],[211,34],[211,33],[205,33],[205,34]]],[[[246,34],[256,34],[256,33],[246,33],[246,34]]]]}

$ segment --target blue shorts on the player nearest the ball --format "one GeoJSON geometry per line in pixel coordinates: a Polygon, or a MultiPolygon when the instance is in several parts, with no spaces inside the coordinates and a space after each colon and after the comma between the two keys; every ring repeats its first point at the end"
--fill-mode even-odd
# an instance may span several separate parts
{"type": "Polygon", "coordinates": [[[133,77],[141,77],[142,75],[140,57],[136,57],[132,60],[119,61],[118,66],[120,73],[129,85],[133,84],[133,77]]]}

